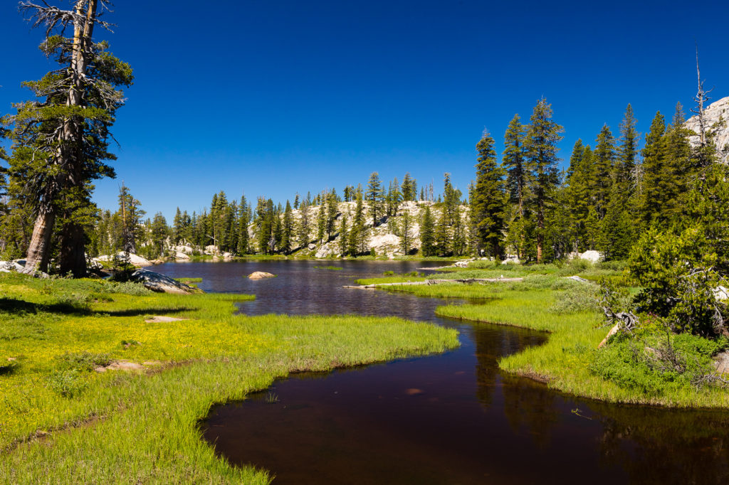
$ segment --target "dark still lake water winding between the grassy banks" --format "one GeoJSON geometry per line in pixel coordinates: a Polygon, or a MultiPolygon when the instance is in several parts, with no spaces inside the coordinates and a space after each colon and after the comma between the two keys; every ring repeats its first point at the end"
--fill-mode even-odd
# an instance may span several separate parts
{"type": "Polygon", "coordinates": [[[499,371],[503,355],[545,334],[437,318],[444,300],[342,288],[410,272],[413,261],[163,264],[205,291],[253,293],[246,315],[395,315],[457,328],[461,347],[327,374],[295,374],[216,406],[206,440],[227,460],[270,470],[275,484],[722,484],[729,413],[582,400],[499,371]],[[335,264],[340,271],[315,269],[335,264]],[[266,271],[278,275],[249,280],[266,271]],[[277,403],[267,396],[275,393],[277,403]]]}

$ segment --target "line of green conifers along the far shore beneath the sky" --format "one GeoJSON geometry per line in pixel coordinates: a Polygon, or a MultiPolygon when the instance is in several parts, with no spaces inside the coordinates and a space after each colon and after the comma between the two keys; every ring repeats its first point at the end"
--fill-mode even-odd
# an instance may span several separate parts
{"type": "MultiPolygon", "coordinates": [[[[711,130],[706,143],[690,145],[695,133],[685,128],[680,104],[668,125],[660,112],[655,115],[642,147],[628,105],[617,137],[605,125],[593,145],[578,140],[569,167],[561,171],[557,144],[562,132],[551,106],[539,100],[529,123],[522,124],[518,114],[509,123],[500,160],[494,138],[484,133],[465,198],[448,173],[436,198],[432,183],[418,187],[409,173],[402,183],[396,178],[385,186],[375,172],[365,186],[345,186],[341,195],[325,189],[313,197],[295,194],[285,204],[269,197],[255,203],[244,196],[229,200],[219,192],[202,213],[178,208],[170,225],[161,213],[145,221],[139,201],[122,184],[116,212],[90,208],[87,252],[126,250],[156,258],[175,245],[198,250],[214,245],[238,255],[290,254],[338,237],[342,256],[358,256],[369,253],[372,228],[394,218],[397,224],[389,227],[405,239],[406,253],[413,252],[418,224],[422,256],[553,261],[573,251],[597,250],[606,259],[624,259],[651,227],[696,217],[697,197],[705,197],[708,189],[707,171],[723,167],[714,163],[711,130]],[[342,202],[353,202],[354,210],[341,210],[342,202]],[[403,211],[403,202],[418,202],[418,215],[403,211]]],[[[5,202],[0,249],[5,258],[21,257],[34,216],[12,197],[5,202]]]]}

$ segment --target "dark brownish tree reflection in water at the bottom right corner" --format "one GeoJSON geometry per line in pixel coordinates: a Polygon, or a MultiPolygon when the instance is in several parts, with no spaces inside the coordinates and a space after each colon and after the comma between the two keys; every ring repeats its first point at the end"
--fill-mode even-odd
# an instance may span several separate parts
{"type": "Polygon", "coordinates": [[[720,484],[729,479],[729,413],[590,403],[601,415],[601,454],[638,484],[720,484]]]}

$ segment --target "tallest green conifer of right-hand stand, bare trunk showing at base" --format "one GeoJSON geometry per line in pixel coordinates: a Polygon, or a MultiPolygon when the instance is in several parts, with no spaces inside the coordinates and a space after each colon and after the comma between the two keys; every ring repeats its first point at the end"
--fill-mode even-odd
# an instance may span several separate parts
{"type": "Polygon", "coordinates": [[[550,204],[550,195],[559,184],[557,170],[557,143],[561,141],[563,129],[552,119],[552,106],[542,98],[534,106],[529,130],[526,133],[526,161],[531,179],[532,205],[537,218],[536,249],[537,262],[544,253],[545,215],[550,204]]]}

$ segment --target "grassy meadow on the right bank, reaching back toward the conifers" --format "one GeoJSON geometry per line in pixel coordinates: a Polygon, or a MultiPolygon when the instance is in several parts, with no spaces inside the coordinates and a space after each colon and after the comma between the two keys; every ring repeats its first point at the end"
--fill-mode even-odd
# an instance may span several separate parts
{"type": "MultiPolygon", "coordinates": [[[[580,283],[566,276],[580,275],[588,280],[605,277],[620,280],[620,266],[574,264],[534,265],[520,267],[490,261],[475,261],[467,269],[451,269],[439,279],[523,277],[521,282],[477,283],[463,285],[383,286],[386,291],[404,291],[433,298],[465,299],[466,304],[437,307],[436,314],[445,318],[472,322],[520,326],[550,333],[538,347],[507,356],[499,361],[504,371],[529,376],[565,393],[619,403],[646,403],[675,407],[729,408],[729,392],[717,386],[691,385],[687,379],[670,372],[657,374],[642,363],[631,362],[629,356],[618,355],[617,345],[601,350],[598,345],[607,335],[604,316],[596,307],[597,285],[580,283]]],[[[401,281],[412,280],[401,277],[401,281]]],[[[362,283],[378,283],[375,279],[362,283]]],[[[397,277],[383,277],[381,283],[395,283],[397,277]]],[[[632,292],[636,291],[632,288],[632,292]]],[[[648,330],[645,331],[646,334],[648,330]]],[[[671,337],[674,345],[686,349],[687,367],[710,365],[712,352],[726,347],[693,336],[671,337]]],[[[660,330],[647,336],[647,341],[660,339],[660,330]]],[[[612,342],[612,341],[611,341],[612,342]]],[[[625,344],[623,344],[625,347],[625,344]]],[[[626,347],[632,352],[636,347],[626,347]]],[[[640,349],[642,351],[642,349],[640,349]]],[[[705,369],[704,369],[705,370],[705,369]]]]}

